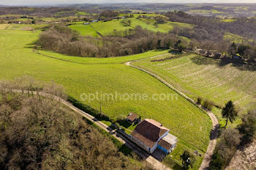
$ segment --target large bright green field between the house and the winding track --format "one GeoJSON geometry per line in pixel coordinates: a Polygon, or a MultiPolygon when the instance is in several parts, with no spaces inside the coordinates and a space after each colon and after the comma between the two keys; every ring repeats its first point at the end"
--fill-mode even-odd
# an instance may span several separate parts
{"type": "MultiPolygon", "coordinates": [[[[81,93],[175,93],[146,73],[124,64],[68,63],[32,53],[29,44],[38,34],[29,31],[0,31],[0,78],[12,79],[24,74],[38,80],[64,85],[69,96],[80,101],[81,93]],[[19,42],[19,43],[13,43],[19,42]]],[[[127,58],[128,59],[128,58],[127,58]]],[[[95,61],[98,61],[96,59],[95,61]]],[[[113,61],[113,58],[110,58],[113,61]]],[[[83,102],[83,101],[81,101],[83,102]]],[[[86,101],[99,109],[99,101],[86,101]]],[[[211,120],[202,111],[178,96],[177,101],[102,101],[102,110],[114,118],[137,112],[142,117],[163,123],[170,132],[197,150],[206,151],[211,120]]]]}

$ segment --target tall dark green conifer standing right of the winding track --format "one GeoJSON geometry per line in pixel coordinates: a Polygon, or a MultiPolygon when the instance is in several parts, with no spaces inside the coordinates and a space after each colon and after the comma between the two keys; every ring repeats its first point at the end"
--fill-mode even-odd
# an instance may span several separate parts
{"type": "Polygon", "coordinates": [[[236,108],[233,104],[233,101],[228,101],[225,107],[222,109],[222,118],[226,119],[226,125],[227,121],[230,120],[231,123],[236,120],[238,113],[236,112],[236,108]]]}

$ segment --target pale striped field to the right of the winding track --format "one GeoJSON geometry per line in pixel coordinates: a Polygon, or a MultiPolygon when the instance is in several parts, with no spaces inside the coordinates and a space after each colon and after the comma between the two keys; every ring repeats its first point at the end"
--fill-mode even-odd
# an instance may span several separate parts
{"type": "MultiPolygon", "coordinates": [[[[256,72],[241,70],[243,66],[223,64],[198,55],[162,62],[138,61],[142,66],[164,77],[176,88],[196,100],[197,96],[209,98],[223,106],[228,100],[246,112],[256,102],[256,72]]],[[[218,109],[214,109],[220,118],[218,109]]]]}

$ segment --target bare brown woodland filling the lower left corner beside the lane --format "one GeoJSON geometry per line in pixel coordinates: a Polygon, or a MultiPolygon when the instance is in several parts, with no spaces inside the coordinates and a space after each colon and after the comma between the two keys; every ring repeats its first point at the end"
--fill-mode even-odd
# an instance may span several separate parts
{"type": "Polygon", "coordinates": [[[58,101],[0,86],[0,169],[150,169],[58,101]]]}

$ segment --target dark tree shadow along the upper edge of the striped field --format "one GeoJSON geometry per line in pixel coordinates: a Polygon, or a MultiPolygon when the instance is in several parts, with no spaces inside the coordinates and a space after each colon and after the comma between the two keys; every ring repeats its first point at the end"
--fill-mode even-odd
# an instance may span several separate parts
{"type": "Polygon", "coordinates": [[[256,71],[256,65],[252,64],[246,64],[244,61],[235,61],[231,59],[214,59],[214,58],[207,58],[203,56],[195,56],[191,58],[192,63],[195,63],[197,65],[216,65],[221,67],[227,66],[230,64],[230,66],[235,67],[236,69],[239,69],[241,71],[256,71]]]}

